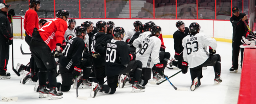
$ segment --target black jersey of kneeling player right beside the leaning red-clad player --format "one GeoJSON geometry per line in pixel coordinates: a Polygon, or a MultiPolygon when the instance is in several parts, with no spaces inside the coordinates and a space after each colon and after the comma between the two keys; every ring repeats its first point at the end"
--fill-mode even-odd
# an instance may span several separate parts
{"type": "Polygon", "coordinates": [[[60,64],[66,69],[69,69],[71,66],[80,68],[80,62],[84,49],[84,40],[79,37],[71,38],[63,50],[63,56],[60,57],[60,64]]]}

